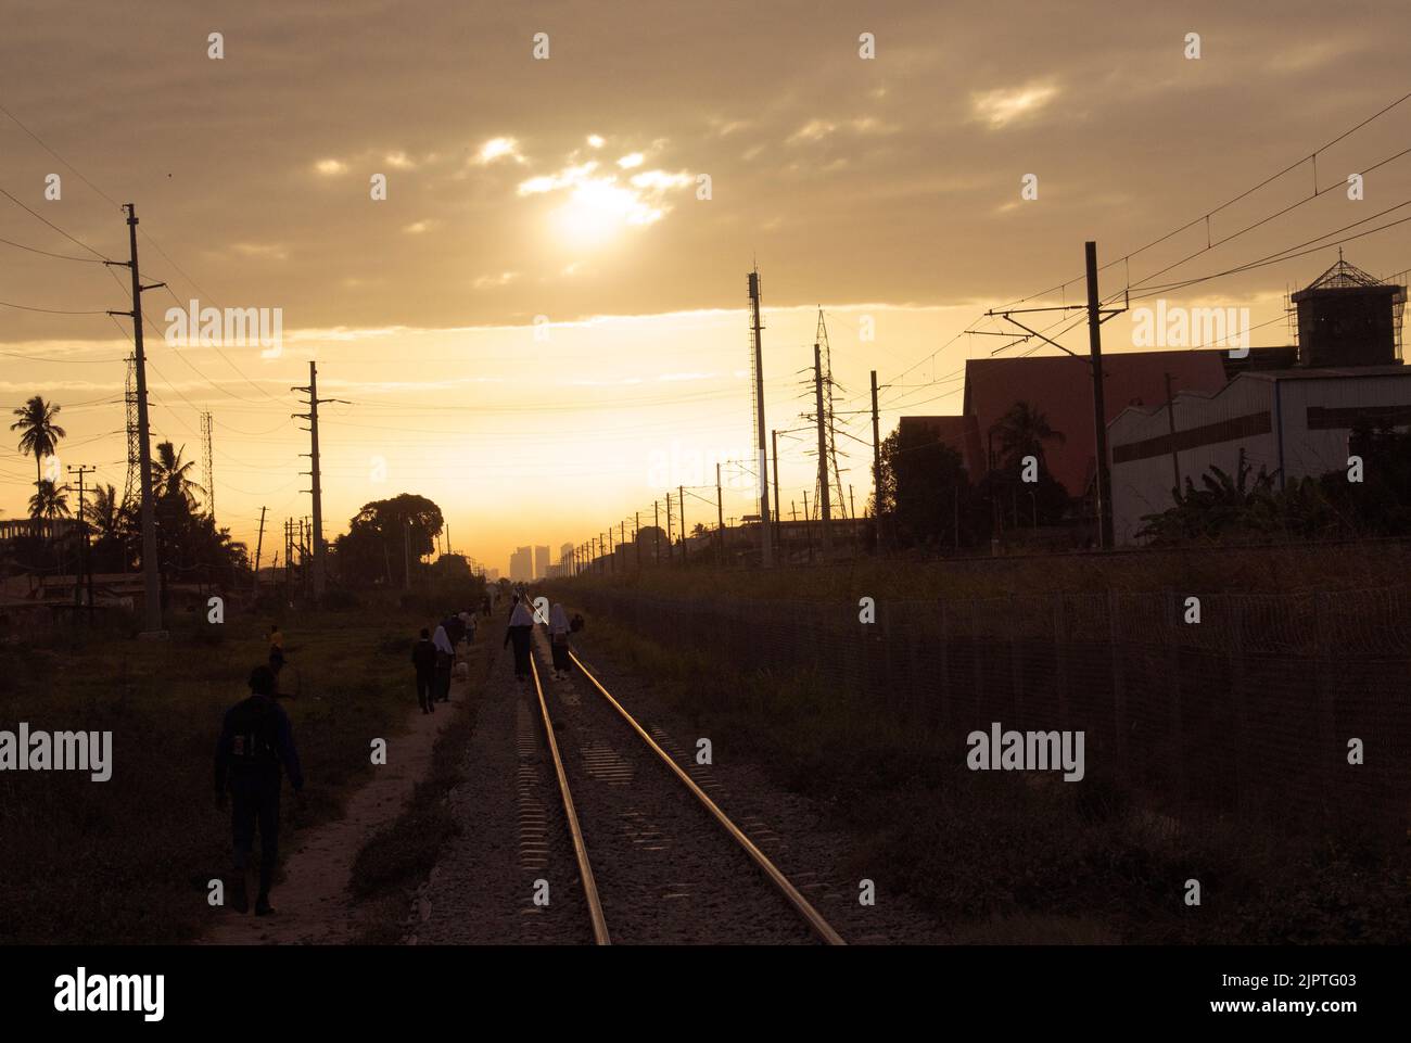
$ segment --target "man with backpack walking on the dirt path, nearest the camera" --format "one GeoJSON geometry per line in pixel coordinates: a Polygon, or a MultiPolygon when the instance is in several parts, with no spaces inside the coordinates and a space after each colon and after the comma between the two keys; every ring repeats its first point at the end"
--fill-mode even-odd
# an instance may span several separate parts
{"type": "Polygon", "coordinates": [[[288,772],[293,792],[303,789],[303,772],[293,748],[293,730],[275,703],[275,676],[268,666],[250,672],[250,699],[226,711],[216,742],[216,807],[226,806],[230,789],[230,828],[236,848],[236,891],[231,908],[246,912],[246,865],[260,828],[260,893],[255,916],[274,912],[270,885],[279,858],[279,788],[288,772]]]}

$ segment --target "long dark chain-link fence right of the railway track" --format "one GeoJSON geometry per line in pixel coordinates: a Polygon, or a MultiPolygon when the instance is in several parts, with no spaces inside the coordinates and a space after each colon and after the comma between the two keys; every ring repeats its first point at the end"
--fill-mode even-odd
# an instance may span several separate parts
{"type": "Polygon", "coordinates": [[[875,622],[859,604],[573,597],[741,673],[816,670],[941,756],[995,721],[1074,730],[1089,778],[1173,816],[1407,827],[1411,587],[879,600],[875,622]]]}

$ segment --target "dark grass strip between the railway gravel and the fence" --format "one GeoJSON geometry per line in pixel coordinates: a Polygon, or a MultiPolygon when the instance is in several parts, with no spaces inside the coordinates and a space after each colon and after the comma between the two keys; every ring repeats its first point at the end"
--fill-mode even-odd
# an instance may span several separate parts
{"type": "Polygon", "coordinates": [[[1398,943],[1411,934],[1404,844],[1180,827],[1112,780],[969,772],[958,735],[878,714],[809,672],[739,676],[590,621],[586,648],[652,679],[715,749],[831,810],[851,871],[913,895],[976,943],[1398,943]],[[1198,879],[1198,908],[1184,902],[1198,879]]]}

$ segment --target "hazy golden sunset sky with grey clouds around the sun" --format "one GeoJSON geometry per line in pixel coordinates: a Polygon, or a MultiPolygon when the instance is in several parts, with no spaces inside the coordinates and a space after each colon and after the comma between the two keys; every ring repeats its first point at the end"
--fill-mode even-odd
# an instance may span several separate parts
{"type": "MultiPolygon", "coordinates": [[[[351,402],[326,408],[329,538],[368,500],[420,493],[457,550],[505,570],[516,545],[557,553],[749,453],[755,261],[768,426],[811,409],[821,305],[840,409],[865,405],[875,368],[888,430],[957,412],[964,360],[1005,342],[955,334],[998,330],[976,316],[1079,275],[1085,239],[1116,261],[1105,294],[1322,246],[1164,294],[1250,308],[1253,343],[1287,343],[1285,289],[1336,260],[1316,237],[1411,216],[1405,157],[1367,172],[1362,200],[1333,188],[1219,244],[1311,196],[1305,162],[1122,260],[1404,95],[1403,3],[45,0],[11,1],[6,23],[0,106],[73,169],[0,114],[0,188],[114,260],[113,202],[137,203],[144,281],[174,291],[144,296],[154,429],[199,460],[199,412],[213,414],[216,512],[251,545],[261,505],[274,529],[309,512],[289,387],[310,357],[320,391],[351,402]],[[1037,199],[1022,199],[1026,174],[1037,199]],[[165,343],[165,311],[190,299],[281,309],[282,353],[165,343]]],[[[1407,148],[1408,130],[1404,103],[1321,152],[1316,188],[1407,148]]],[[[18,203],[0,196],[0,239],[96,260],[18,203]]],[[[1411,267],[1408,227],[1348,243],[1348,258],[1411,267]]],[[[6,305],[128,306],[121,268],[4,243],[0,265],[6,305]]],[[[4,404],[62,404],[61,460],[119,487],[128,329],[0,306],[4,404]]],[[[1105,337],[1130,347],[1130,323],[1105,337]]],[[[1084,330],[1065,343],[1084,350],[1084,330]]],[[[861,508],[871,450],[842,445],[861,508]]],[[[811,495],[813,463],[807,440],[786,446],[787,511],[811,495]]],[[[32,480],[32,462],[0,459],[4,517],[24,514],[32,480]]],[[[689,498],[689,524],[714,517],[714,488],[698,494],[711,502],[689,498]]],[[[727,490],[727,517],[749,510],[727,490]]]]}

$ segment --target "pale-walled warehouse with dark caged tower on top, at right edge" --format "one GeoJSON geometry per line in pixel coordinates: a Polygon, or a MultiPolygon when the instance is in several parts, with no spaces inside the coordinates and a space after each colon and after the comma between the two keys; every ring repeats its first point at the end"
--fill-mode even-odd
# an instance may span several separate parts
{"type": "Polygon", "coordinates": [[[1359,423],[1411,426],[1405,288],[1339,258],[1292,302],[1295,366],[1246,370],[1219,391],[1187,388],[1153,408],[1132,405],[1109,423],[1118,543],[1136,542],[1143,515],[1170,508],[1178,481],[1199,486],[1211,467],[1235,476],[1243,456],[1284,484],[1346,469],[1359,423]]]}

